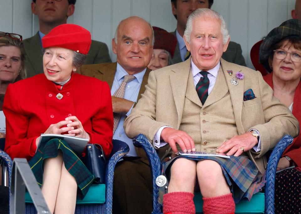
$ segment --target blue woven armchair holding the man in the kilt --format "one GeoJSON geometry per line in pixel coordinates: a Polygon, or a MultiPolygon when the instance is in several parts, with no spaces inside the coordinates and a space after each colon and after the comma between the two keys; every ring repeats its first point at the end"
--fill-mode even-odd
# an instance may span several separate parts
{"type": "MultiPolygon", "coordinates": [[[[285,135],[273,149],[272,154],[268,160],[264,193],[256,193],[251,201],[241,201],[236,204],[235,213],[274,213],[274,192],[275,192],[275,173],[278,161],[283,151],[293,142],[293,138],[285,135]]],[[[156,178],[161,175],[161,163],[156,153],[156,149],[152,146],[150,141],[142,134],[133,139],[133,143],[137,147],[142,147],[149,159],[151,174],[153,178],[153,206],[152,214],[162,214],[162,207],[158,202],[159,187],[156,185],[156,178]]],[[[202,213],[203,201],[201,196],[196,194],[194,197],[197,213],[202,213]]]]}

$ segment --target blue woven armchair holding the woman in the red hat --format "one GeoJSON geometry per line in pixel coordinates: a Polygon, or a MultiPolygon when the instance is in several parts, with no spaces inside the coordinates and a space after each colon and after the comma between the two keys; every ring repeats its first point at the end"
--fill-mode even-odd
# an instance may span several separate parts
{"type": "MultiPolygon", "coordinates": [[[[0,155],[1,155],[0,151],[0,155]]],[[[129,152],[129,146],[120,140],[113,140],[113,149],[108,157],[108,164],[106,168],[106,182],[105,184],[92,185],[83,200],[77,200],[75,214],[111,214],[112,213],[112,196],[113,196],[113,178],[114,168],[117,162],[129,152]]],[[[9,156],[3,152],[4,157],[9,156]]],[[[10,158],[9,158],[10,159],[10,158]]],[[[11,159],[10,159],[11,161],[11,159]]],[[[12,161],[9,165],[9,176],[11,176],[12,161]]],[[[11,180],[11,179],[9,179],[11,180]]],[[[37,213],[32,200],[28,193],[25,194],[25,213],[37,213]]]]}

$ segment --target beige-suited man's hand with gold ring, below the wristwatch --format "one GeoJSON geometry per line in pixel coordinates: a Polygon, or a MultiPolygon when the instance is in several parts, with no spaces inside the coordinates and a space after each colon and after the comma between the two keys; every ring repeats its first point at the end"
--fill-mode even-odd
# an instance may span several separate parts
{"type": "Polygon", "coordinates": [[[257,138],[250,132],[247,132],[242,135],[236,135],[230,140],[226,140],[219,146],[216,152],[225,153],[230,150],[227,155],[234,154],[234,156],[240,156],[244,151],[246,152],[252,149],[257,143],[257,138]],[[244,150],[241,150],[240,148],[244,148],[244,150]]]}

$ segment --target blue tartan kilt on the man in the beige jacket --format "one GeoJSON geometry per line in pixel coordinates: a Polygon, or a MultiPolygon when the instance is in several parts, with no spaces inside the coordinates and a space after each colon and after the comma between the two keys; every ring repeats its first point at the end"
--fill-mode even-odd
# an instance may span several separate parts
{"type": "Polygon", "coordinates": [[[163,171],[168,180],[170,180],[171,166],[178,158],[186,158],[196,161],[210,159],[218,162],[222,168],[224,177],[229,185],[235,203],[238,203],[241,200],[250,201],[252,195],[261,191],[266,183],[265,175],[262,175],[255,164],[245,156],[221,158],[215,156],[196,157],[178,155],[163,164],[163,171]]]}

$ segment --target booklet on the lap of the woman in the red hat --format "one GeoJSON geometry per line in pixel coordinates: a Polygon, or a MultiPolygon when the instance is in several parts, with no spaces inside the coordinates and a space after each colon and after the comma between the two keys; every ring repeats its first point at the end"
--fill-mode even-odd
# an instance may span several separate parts
{"type": "Polygon", "coordinates": [[[73,136],[62,135],[62,134],[41,134],[40,141],[37,148],[39,148],[41,143],[45,143],[53,138],[66,141],[69,144],[69,146],[79,155],[82,154],[82,152],[84,151],[85,147],[88,144],[88,139],[86,138],[79,138],[79,137],[73,137],[73,136]]]}

